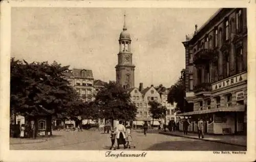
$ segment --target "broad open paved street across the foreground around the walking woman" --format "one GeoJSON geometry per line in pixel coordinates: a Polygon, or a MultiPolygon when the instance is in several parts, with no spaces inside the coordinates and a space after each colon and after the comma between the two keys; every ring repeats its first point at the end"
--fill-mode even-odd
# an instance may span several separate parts
{"type": "MultiPolygon", "coordinates": [[[[111,146],[110,134],[99,131],[54,131],[53,136],[46,142],[30,144],[13,144],[11,150],[108,150],[111,146]]],[[[136,148],[131,150],[184,150],[184,151],[211,151],[211,150],[239,150],[245,147],[220,144],[215,142],[189,139],[185,137],[159,134],[150,131],[147,136],[142,131],[133,131],[133,144],[136,148]]],[[[123,147],[120,147],[123,149],[123,147]]],[[[130,150],[130,149],[129,149],[130,150]]]]}

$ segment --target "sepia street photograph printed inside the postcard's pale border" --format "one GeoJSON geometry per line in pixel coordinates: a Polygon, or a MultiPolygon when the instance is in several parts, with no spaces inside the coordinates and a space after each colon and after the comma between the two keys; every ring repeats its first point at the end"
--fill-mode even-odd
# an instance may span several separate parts
{"type": "Polygon", "coordinates": [[[10,151],[245,157],[248,8],[14,6],[10,13],[10,151]]]}

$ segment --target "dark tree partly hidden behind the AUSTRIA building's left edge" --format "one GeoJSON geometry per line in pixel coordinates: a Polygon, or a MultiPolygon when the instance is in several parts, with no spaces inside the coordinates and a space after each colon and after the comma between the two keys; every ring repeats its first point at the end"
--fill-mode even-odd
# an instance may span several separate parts
{"type": "Polygon", "coordinates": [[[193,107],[191,107],[187,101],[185,100],[186,97],[186,87],[185,87],[185,70],[183,69],[181,71],[181,77],[179,80],[170,87],[167,101],[170,104],[176,104],[176,111],[179,112],[188,112],[193,110],[193,107]]]}

